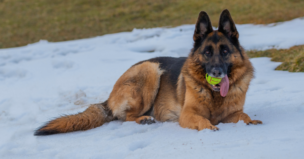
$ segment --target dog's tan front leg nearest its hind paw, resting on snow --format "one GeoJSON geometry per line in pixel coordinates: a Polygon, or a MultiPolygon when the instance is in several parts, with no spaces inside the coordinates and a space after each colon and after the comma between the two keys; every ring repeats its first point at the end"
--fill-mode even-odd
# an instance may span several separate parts
{"type": "Polygon", "coordinates": [[[203,116],[197,115],[193,110],[183,109],[181,111],[181,116],[179,118],[179,124],[183,128],[190,128],[190,129],[210,129],[210,130],[219,130],[216,126],[213,126],[208,119],[203,116]]]}

